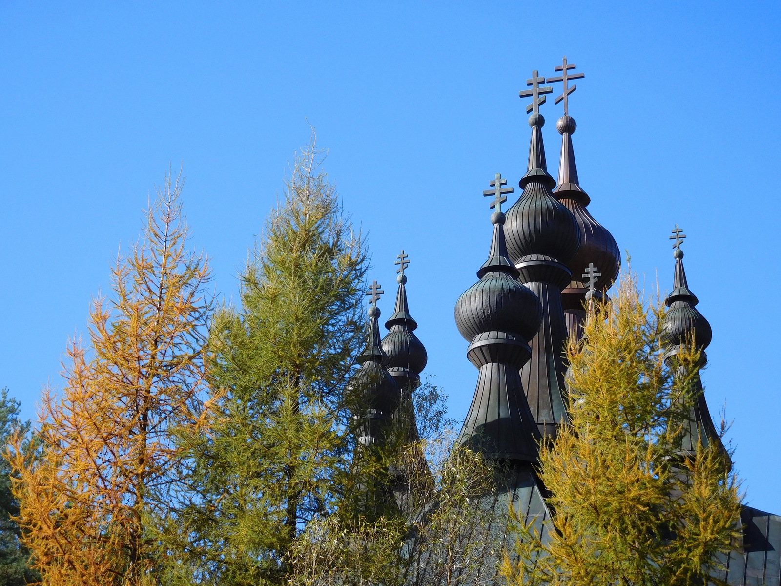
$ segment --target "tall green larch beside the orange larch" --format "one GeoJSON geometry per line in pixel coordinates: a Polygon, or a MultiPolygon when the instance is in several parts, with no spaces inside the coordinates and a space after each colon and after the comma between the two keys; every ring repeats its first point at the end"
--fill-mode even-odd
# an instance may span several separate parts
{"type": "Polygon", "coordinates": [[[170,584],[284,584],[301,527],[333,510],[353,443],[366,249],[314,135],[211,332],[209,416],[182,428],[191,496],[162,540],[170,584]]]}

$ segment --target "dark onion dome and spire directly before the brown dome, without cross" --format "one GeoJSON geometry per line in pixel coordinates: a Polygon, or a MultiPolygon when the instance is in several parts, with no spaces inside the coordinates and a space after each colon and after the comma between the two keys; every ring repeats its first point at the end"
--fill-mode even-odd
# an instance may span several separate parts
{"type": "Polygon", "coordinates": [[[538,113],[530,116],[529,171],[519,183],[523,189],[521,197],[507,211],[507,247],[515,263],[537,255],[538,260],[548,259],[547,263],[566,264],[580,246],[580,230],[575,216],[551,193],[555,181],[546,170],[540,134],[544,122],[543,116],[538,113]]]}

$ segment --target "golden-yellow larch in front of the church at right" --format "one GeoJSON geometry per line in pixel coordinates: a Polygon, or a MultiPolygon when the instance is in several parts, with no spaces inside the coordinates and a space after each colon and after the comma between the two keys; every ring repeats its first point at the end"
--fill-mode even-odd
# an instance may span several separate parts
{"type": "Polygon", "coordinates": [[[512,586],[717,583],[740,527],[738,483],[715,445],[676,452],[699,353],[665,365],[663,315],[625,275],[569,346],[571,423],[540,452],[555,531],[541,538],[516,516],[517,557],[503,566],[512,586]]]}

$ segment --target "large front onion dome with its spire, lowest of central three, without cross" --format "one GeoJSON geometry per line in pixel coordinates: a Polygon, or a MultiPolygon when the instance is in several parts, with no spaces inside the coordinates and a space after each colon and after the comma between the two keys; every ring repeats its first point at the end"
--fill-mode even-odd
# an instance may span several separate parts
{"type": "Polygon", "coordinates": [[[480,277],[455,304],[455,323],[467,341],[490,331],[519,334],[529,341],[537,334],[542,308],[537,295],[518,279],[519,272],[507,258],[505,215],[494,213],[494,237],[490,256],[477,271],[480,277]]]}

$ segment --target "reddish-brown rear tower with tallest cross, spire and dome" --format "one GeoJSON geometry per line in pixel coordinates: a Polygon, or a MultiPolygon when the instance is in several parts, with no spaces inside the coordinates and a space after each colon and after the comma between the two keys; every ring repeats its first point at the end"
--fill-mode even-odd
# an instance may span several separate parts
{"type": "Polygon", "coordinates": [[[606,291],[618,277],[621,264],[621,253],[615,238],[608,232],[587,210],[591,199],[586,191],[580,187],[578,168],[575,163],[575,149],[572,147],[572,134],[575,133],[577,123],[569,116],[569,95],[577,89],[575,84],[569,85],[571,80],[583,79],[583,73],[569,73],[576,68],[574,63],[567,63],[567,58],[562,59],[562,65],[556,66],[556,71],[562,74],[558,77],[548,77],[549,83],[562,82],[562,94],[556,98],[556,103],[564,102],[564,116],[558,119],[556,130],[562,135],[562,154],[558,161],[558,186],[553,194],[560,202],[566,205],[572,212],[580,228],[580,248],[577,254],[568,263],[572,273],[572,280],[562,291],[562,305],[564,306],[567,329],[570,335],[580,339],[583,336],[583,320],[586,317],[584,302],[586,300],[587,285],[578,275],[584,267],[591,263],[601,268],[601,278],[595,285],[597,291],[606,291]]]}

